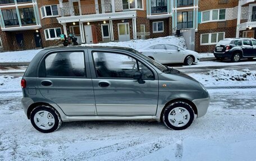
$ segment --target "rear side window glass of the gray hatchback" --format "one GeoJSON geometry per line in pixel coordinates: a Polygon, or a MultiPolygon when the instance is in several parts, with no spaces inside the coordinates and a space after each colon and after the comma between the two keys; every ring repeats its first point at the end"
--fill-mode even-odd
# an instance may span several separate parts
{"type": "Polygon", "coordinates": [[[85,77],[83,52],[57,52],[45,58],[46,77],[85,77]]]}

